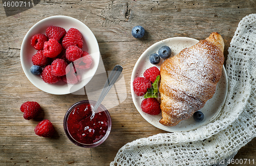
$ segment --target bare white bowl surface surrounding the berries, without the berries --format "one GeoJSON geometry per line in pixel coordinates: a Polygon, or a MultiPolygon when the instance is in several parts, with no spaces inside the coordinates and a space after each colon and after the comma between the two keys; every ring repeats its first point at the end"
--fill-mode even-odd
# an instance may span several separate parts
{"type": "Polygon", "coordinates": [[[22,63],[22,68],[30,82],[38,89],[56,95],[73,93],[86,86],[98,68],[99,59],[99,45],[92,31],[81,21],[69,16],[51,16],[34,24],[24,37],[22,47],[20,49],[20,61],[22,63]],[[37,51],[30,45],[30,39],[37,33],[45,34],[47,27],[50,25],[63,27],[66,31],[71,27],[79,30],[83,38],[82,50],[90,53],[92,57],[92,66],[86,72],[82,73],[81,81],[75,85],[66,84],[63,81],[59,81],[57,84],[47,84],[41,79],[40,75],[34,75],[30,72],[30,67],[33,65],[32,56],[37,51]]]}

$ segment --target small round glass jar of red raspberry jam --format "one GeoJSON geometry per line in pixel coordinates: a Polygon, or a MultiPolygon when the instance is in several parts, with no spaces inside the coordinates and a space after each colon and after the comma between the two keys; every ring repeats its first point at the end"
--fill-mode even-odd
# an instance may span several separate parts
{"type": "Polygon", "coordinates": [[[103,143],[111,130],[111,118],[103,105],[92,116],[96,101],[82,100],[72,105],[65,118],[64,129],[69,139],[81,147],[96,147],[103,143]]]}

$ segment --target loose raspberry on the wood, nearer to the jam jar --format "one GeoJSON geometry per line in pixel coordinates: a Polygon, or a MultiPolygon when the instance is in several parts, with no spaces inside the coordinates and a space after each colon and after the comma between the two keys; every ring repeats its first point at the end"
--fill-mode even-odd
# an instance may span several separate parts
{"type": "Polygon", "coordinates": [[[52,123],[45,119],[39,122],[35,127],[35,134],[42,137],[52,137],[55,130],[52,123]]]}

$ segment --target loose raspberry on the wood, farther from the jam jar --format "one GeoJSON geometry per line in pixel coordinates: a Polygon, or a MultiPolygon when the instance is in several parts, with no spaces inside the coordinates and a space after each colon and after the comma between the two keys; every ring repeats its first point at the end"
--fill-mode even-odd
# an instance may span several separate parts
{"type": "Polygon", "coordinates": [[[23,117],[26,120],[35,118],[36,115],[40,112],[41,107],[35,101],[27,101],[20,106],[20,111],[23,112],[23,117]]]}

